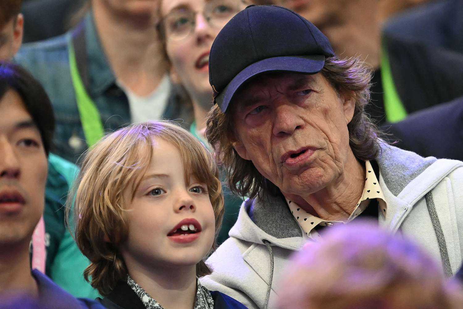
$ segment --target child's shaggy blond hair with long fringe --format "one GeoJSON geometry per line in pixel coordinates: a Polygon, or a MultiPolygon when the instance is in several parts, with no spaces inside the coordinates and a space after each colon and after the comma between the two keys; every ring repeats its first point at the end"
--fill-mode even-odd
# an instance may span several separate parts
{"type": "MultiPolygon", "coordinates": [[[[91,277],[91,285],[101,295],[107,295],[127,276],[118,251],[118,244],[129,232],[123,192],[128,186],[133,192],[137,190],[152,158],[153,138],[163,139],[178,149],[187,180],[194,176],[207,185],[216,235],[222,222],[224,198],[219,170],[206,147],[190,132],[167,121],[150,121],[106,135],[85,154],[68,200],[72,203],[75,196],[75,240],[90,260],[84,277],[87,281],[91,277]]],[[[211,270],[201,260],[196,273],[201,277],[211,270]]]]}

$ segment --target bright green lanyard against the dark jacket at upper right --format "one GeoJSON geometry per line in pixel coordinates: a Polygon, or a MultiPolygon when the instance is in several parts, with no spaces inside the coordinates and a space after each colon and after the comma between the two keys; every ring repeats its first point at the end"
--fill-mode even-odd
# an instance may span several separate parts
{"type": "Polygon", "coordinates": [[[381,80],[384,91],[383,99],[386,120],[388,122],[398,122],[405,119],[407,117],[407,110],[402,104],[402,101],[400,101],[399,94],[395,88],[391,67],[389,65],[389,57],[384,43],[381,50],[381,80]]]}

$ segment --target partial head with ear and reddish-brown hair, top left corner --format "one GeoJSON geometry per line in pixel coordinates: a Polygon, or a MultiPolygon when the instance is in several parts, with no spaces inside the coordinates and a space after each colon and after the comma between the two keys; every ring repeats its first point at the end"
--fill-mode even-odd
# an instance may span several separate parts
{"type": "Polygon", "coordinates": [[[0,59],[10,59],[19,50],[23,39],[21,0],[0,1],[0,59]]]}

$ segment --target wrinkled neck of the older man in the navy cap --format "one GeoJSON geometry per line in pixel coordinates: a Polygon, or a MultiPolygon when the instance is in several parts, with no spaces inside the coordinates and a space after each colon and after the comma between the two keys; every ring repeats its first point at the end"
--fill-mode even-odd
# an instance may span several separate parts
{"type": "Polygon", "coordinates": [[[326,221],[345,221],[357,206],[365,187],[365,165],[351,155],[344,172],[325,188],[307,196],[287,195],[308,213],[326,221]]]}

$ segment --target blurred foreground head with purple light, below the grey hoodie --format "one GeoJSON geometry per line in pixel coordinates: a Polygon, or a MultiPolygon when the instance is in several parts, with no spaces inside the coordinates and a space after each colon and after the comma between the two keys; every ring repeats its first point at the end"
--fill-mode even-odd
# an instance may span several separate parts
{"type": "Polygon", "coordinates": [[[277,308],[459,309],[463,287],[412,240],[372,222],[333,227],[296,253],[277,308]]]}

